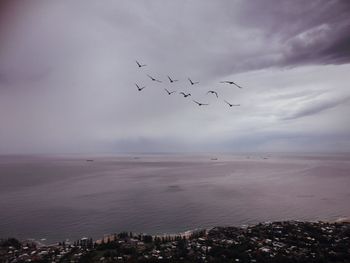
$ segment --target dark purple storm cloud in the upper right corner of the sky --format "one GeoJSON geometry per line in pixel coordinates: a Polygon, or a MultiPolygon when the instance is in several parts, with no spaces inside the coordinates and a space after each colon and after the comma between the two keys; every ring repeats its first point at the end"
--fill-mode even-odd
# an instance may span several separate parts
{"type": "Polygon", "coordinates": [[[253,68],[343,64],[350,62],[349,14],[342,0],[241,1],[234,22],[262,32],[270,57],[259,54],[253,68]]]}

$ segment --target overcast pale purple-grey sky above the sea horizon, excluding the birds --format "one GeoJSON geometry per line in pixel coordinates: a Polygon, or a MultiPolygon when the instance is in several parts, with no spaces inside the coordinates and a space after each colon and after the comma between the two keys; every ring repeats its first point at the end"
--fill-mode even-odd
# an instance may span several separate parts
{"type": "Polygon", "coordinates": [[[1,1],[0,154],[349,152],[349,14],[347,0],[1,1]]]}

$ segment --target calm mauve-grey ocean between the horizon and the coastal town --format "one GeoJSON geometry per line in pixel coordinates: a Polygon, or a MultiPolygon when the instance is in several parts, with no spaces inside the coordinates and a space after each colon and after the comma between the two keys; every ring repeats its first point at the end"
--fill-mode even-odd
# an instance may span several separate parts
{"type": "Polygon", "coordinates": [[[334,220],[349,200],[349,154],[0,156],[0,237],[334,220]]]}

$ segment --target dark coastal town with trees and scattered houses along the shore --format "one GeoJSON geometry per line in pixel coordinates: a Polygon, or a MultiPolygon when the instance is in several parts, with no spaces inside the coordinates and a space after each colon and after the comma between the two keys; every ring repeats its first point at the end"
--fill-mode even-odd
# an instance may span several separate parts
{"type": "Polygon", "coordinates": [[[265,222],[178,235],[122,232],[43,245],[0,240],[0,262],[350,262],[350,223],[265,222]]]}

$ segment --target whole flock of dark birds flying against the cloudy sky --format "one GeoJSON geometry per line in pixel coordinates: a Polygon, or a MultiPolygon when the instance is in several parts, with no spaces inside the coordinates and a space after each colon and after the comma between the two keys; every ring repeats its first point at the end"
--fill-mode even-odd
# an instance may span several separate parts
{"type": "MultiPolygon", "coordinates": [[[[142,68],[142,67],[146,67],[146,66],[147,66],[146,64],[142,64],[142,63],[138,62],[137,60],[135,60],[135,62],[136,62],[137,66],[138,66],[139,68],[142,68]]],[[[146,74],[146,76],[149,77],[149,78],[150,78],[152,81],[154,81],[154,82],[162,83],[161,80],[156,79],[156,78],[152,77],[151,75],[146,74]]],[[[174,83],[174,82],[179,81],[179,80],[177,80],[177,79],[172,79],[170,76],[167,76],[167,78],[168,78],[168,80],[169,80],[170,83],[174,83]]],[[[190,82],[191,86],[196,85],[196,84],[199,84],[199,81],[192,81],[192,79],[190,79],[190,78],[188,78],[188,81],[190,82]]],[[[237,88],[242,89],[242,87],[241,87],[240,85],[238,85],[237,83],[235,83],[234,81],[225,80],[225,81],[220,81],[220,83],[235,85],[237,88]]],[[[136,85],[138,91],[142,91],[143,89],[146,88],[146,86],[140,87],[137,83],[135,83],[135,85],[136,85]]],[[[167,92],[168,95],[172,95],[172,94],[176,93],[175,90],[170,91],[170,90],[168,90],[168,89],[166,89],[166,88],[164,88],[164,90],[167,92]]],[[[187,97],[191,96],[191,93],[179,92],[179,94],[182,95],[184,98],[187,98],[187,97]]],[[[216,98],[219,98],[219,95],[218,95],[218,93],[217,93],[215,90],[209,90],[209,91],[207,92],[207,94],[213,94],[213,95],[216,96],[216,98]]],[[[194,103],[196,103],[198,106],[208,106],[208,105],[209,105],[209,103],[202,103],[202,102],[198,102],[198,101],[196,101],[196,100],[192,100],[192,101],[193,101],[194,103]]],[[[232,103],[228,102],[227,100],[224,100],[224,102],[225,102],[229,107],[240,106],[240,104],[232,104],[232,103]]]]}

